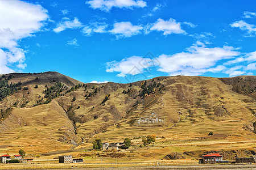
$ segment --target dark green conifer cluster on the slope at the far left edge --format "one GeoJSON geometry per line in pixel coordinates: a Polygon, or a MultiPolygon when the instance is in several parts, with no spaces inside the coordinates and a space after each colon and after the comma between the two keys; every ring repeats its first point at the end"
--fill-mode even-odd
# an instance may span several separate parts
{"type": "Polygon", "coordinates": [[[13,75],[6,76],[2,75],[0,78],[0,101],[7,97],[8,95],[13,95],[15,92],[18,92],[18,90],[21,90],[20,85],[22,83],[10,83],[9,80],[13,78],[13,75]]]}

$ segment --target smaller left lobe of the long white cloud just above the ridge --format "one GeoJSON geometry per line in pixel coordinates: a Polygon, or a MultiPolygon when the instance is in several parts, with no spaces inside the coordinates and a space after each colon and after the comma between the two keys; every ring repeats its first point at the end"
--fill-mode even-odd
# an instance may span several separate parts
{"type": "Polygon", "coordinates": [[[141,74],[145,69],[152,66],[150,58],[143,58],[140,56],[132,56],[124,58],[122,61],[112,61],[106,63],[106,72],[119,72],[117,76],[126,76],[141,74]]]}

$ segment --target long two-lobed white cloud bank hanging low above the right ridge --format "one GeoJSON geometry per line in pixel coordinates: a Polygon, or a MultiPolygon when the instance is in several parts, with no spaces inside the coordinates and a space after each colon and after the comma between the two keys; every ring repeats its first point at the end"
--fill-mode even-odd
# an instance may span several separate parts
{"type": "MultiPolygon", "coordinates": [[[[136,75],[148,71],[150,67],[155,67],[154,63],[159,63],[156,66],[157,70],[170,75],[201,75],[207,72],[227,71],[226,66],[216,65],[216,63],[222,59],[230,59],[238,55],[240,53],[232,46],[207,48],[203,43],[198,43],[189,47],[185,52],[177,54],[162,54],[156,58],[132,56],[119,62],[108,62],[106,63],[106,71],[118,72],[117,76],[136,75]]],[[[234,71],[238,74],[237,70],[230,70],[226,74],[232,76],[234,71]]]]}

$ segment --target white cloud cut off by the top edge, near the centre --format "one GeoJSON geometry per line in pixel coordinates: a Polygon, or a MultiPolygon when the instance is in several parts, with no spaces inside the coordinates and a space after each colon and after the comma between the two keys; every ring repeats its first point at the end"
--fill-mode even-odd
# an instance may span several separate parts
{"type": "Polygon", "coordinates": [[[132,7],[146,7],[147,3],[141,0],[91,0],[87,1],[91,8],[99,8],[102,11],[110,11],[112,7],[117,8],[132,8],[132,7]]]}

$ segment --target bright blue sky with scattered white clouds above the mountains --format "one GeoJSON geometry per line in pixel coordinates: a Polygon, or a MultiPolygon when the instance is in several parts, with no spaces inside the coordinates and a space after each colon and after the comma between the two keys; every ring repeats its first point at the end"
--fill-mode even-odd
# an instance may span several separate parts
{"type": "Polygon", "coordinates": [[[255,1],[0,0],[0,74],[256,74],[255,1]]]}

